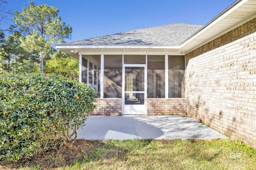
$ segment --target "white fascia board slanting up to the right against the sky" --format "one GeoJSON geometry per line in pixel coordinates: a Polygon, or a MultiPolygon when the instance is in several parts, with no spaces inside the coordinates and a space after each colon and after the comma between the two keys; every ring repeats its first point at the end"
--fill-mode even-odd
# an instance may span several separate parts
{"type": "MultiPolygon", "coordinates": [[[[202,27],[201,29],[199,29],[196,33],[194,33],[194,35],[191,35],[188,39],[186,39],[183,43],[180,44],[180,48],[184,47],[186,44],[188,44],[190,41],[192,41],[193,39],[195,39],[196,37],[198,37],[199,35],[201,35],[202,33],[204,33],[205,31],[207,31],[207,29],[209,29],[210,27],[212,27],[213,25],[215,25],[217,22],[219,22],[220,20],[222,20],[223,18],[225,18],[226,16],[228,16],[230,13],[232,13],[234,10],[236,10],[237,8],[239,8],[240,6],[242,6],[245,2],[247,2],[248,0],[241,0],[238,4],[236,4],[235,6],[230,6],[229,8],[227,8],[226,10],[224,10],[222,13],[220,13],[218,16],[216,16],[212,21],[210,21],[208,24],[206,24],[204,27],[202,27]]],[[[236,2],[235,2],[236,3],[236,2]]]]}

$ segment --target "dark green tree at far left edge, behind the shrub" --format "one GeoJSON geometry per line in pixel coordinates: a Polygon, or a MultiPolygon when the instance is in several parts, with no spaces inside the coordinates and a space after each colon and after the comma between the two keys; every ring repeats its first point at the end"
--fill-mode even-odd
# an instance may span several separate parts
{"type": "Polygon", "coordinates": [[[20,46],[20,37],[22,37],[22,35],[16,31],[14,34],[8,35],[1,44],[0,58],[2,61],[2,70],[6,70],[7,72],[13,70],[14,73],[17,73],[18,66],[24,59],[22,55],[25,53],[24,49],[20,46]]]}

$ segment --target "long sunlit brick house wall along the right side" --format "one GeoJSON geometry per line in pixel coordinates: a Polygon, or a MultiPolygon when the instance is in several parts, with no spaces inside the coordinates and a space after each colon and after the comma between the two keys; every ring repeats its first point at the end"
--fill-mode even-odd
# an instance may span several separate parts
{"type": "Polygon", "coordinates": [[[187,115],[256,148],[256,18],[186,55],[187,115]]]}

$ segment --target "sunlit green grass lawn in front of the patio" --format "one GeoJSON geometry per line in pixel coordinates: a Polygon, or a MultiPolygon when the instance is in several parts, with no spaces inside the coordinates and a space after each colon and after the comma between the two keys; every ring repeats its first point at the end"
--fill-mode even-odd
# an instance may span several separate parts
{"type": "MultiPolygon", "coordinates": [[[[58,170],[256,170],[256,150],[240,141],[106,140],[58,170]]],[[[38,169],[38,166],[23,168],[38,169]]],[[[56,168],[55,168],[56,169],[56,168]]],[[[22,168],[20,168],[22,170],[22,168]]]]}

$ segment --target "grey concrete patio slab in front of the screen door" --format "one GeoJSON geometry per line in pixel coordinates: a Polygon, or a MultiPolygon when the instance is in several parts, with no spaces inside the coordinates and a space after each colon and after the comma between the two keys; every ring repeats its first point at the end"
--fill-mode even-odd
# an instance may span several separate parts
{"type": "Polygon", "coordinates": [[[212,128],[180,116],[89,116],[78,139],[215,139],[212,128]]]}

